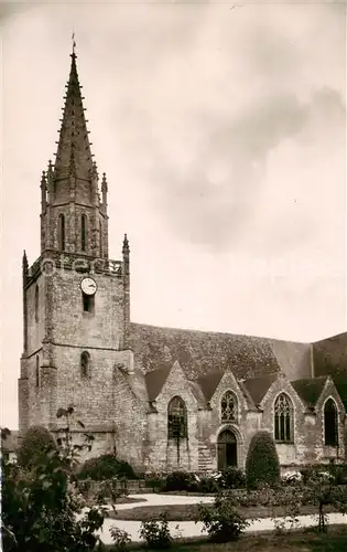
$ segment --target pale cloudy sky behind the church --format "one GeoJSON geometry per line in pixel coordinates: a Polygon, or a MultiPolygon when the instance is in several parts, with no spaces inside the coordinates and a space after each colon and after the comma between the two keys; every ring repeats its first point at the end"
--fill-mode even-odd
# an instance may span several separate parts
{"type": "Polygon", "coordinates": [[[131,318],[346,331],[346,4],[1,2],[1,425],[18,426],[21,262],[40,255],[74,30],[131,318]]]}

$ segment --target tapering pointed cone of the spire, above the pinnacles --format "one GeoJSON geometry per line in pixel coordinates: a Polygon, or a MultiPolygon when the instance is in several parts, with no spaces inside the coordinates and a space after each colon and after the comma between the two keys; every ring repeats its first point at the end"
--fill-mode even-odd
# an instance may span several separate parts
{"type": "Polygon", "coordinates": [[[77,179],[90,180],[94,170],[75,52],[71,56],[71,72],[54,166],[56,183],[72,174],[77,179]]]}

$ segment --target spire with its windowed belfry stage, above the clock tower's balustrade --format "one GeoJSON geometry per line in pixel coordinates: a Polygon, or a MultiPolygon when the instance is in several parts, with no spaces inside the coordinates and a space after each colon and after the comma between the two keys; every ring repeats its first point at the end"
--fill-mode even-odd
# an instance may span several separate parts
{"type": "Polygon", "coordinates": [[[97,164],[90,150],[75,45],[74,41],[55,163],[53,166],[50,161],[46,173],[47,198],[45,211],[42,211],[41,251],[108,258],[107,215],[99,194],[97,164]]]}

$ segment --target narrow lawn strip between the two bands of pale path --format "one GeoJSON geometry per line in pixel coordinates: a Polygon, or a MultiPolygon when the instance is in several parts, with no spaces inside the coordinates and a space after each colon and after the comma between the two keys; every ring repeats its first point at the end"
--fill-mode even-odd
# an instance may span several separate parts
{"type": "MultiPolygon", "coordinates": [[[[208,505],[205,506],[208,507],[208,505]]],[[[164,511],[166,511],[167,513],[169,521],[199,521],[198,505],[139,506],[135,508],[130,508],[129,510],[118,510],[117,514],[110,512],[110,518],[131,521],[158,520],[160,513],[164,511]]],[[[271,508],[267,508],[263,506],[240,508],[239,511],[248,519],[270,518],[273,514],[271,508]]],[[[326,508],[326,512],[329,511],[333,510],[326,508]]],[[[300,512],[301,516],[311,513],[317,513],[316,510],[312,508],[312,506],[302,507],[300,512]]],[[[280,507],[275,508],[274,514],[276,517],[285,516],[284,509],[280,507]]]]}

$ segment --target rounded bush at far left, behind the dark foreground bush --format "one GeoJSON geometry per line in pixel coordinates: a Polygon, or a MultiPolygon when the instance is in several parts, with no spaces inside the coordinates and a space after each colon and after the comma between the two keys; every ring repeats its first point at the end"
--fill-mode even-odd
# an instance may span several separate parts
{"type": "Polygon", "coordinates": [[[56,449],[56,443],[48,429],[41,425],[33,425],[25,433],[18,449],[18,464],[22,467],[31,467],[54,449],[56,449]]]}

